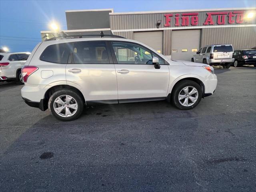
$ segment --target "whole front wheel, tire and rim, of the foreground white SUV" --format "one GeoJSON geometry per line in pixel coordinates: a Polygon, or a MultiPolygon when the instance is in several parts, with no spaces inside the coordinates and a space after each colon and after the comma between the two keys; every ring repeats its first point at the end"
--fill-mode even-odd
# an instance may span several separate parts
{"type": "Polygon", "coordinates": [[[183,80],[175,85],[172,92],[173,104],[182,110],[196,107],[202,98],[201,86],[191,80],[183,80]]]}

